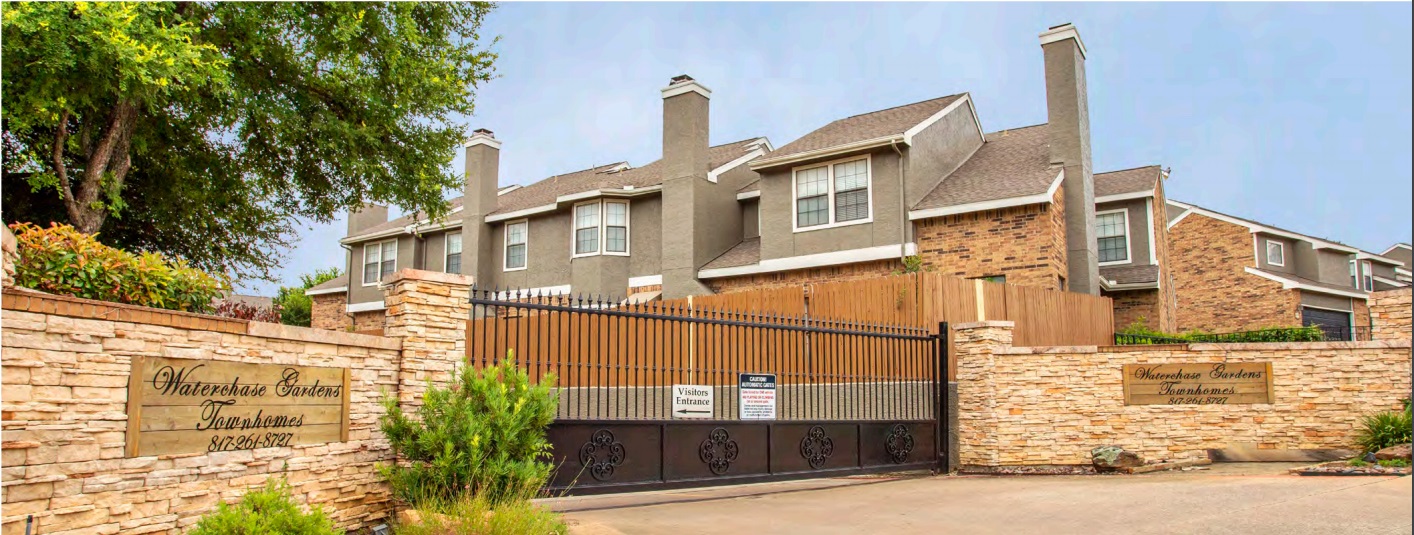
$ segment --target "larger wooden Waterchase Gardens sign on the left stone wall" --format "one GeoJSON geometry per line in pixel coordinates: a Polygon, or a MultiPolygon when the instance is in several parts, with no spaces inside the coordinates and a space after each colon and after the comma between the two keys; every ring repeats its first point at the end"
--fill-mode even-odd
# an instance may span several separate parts
{"type": "Polygon", "coordinates": [[[348,440],[346,368],[133,357],[127,456],[348,440]]]}

